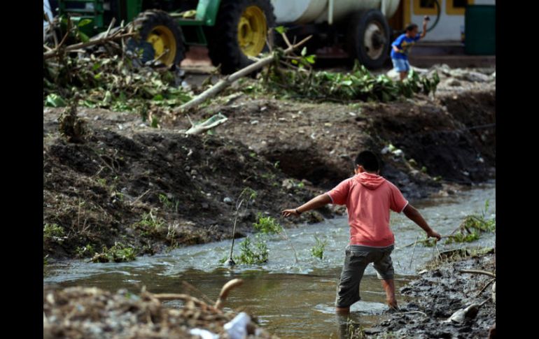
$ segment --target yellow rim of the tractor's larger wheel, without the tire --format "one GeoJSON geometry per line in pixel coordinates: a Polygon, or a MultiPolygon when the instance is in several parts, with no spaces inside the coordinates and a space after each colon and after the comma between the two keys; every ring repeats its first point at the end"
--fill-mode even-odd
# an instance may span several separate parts
{"type": "Polygon", "coordinates": [[[256,57],[264,49],[267,36],[266,16],[257,6],[248,6],[238,22],[238,43],[244,55],[256,57]]]}

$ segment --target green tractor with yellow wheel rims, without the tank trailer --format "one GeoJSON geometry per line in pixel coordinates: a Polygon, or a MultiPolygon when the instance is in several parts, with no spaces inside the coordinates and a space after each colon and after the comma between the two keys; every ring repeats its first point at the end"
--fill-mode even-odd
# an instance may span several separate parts
{"type": "Polygon", "coordinates": [[[127,46],[142,50],[142,62],[178,65],[191,45],[205,45],[224,74],[265,50],[275,22],[269,0],[59,0],[58,13],[92,20],[81,27],[88,35],[106,31],[113,18],[133,22],[139,36],[127,46]]]}

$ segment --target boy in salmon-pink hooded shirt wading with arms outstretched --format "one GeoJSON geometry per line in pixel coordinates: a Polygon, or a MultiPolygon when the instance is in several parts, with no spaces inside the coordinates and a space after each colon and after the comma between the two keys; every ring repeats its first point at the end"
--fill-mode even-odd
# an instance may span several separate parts
{"type": "Polygon", "coordinates": [[[395,185],[378,175],[378,159],[373,152],[363,151],[358,154],[354,173],[356,175],[344,180],[330,192],[316,196],[293,210],[283,210],[281,214],[284,217],[297,217],[302,212],[320,208],[328,203],[346,205],[350,243],[345,250],[346,257],[337,289],[335,310],[347,313],[350,311],[350,305],[360,300],[359,283],[370,263],[374,264],[378,278],[381,279],[388,306],[396,309],[391,262],[395,236],[389,229],[390,210],[404,212],[426,231],[427,236],[437,240],[442,237],[428,226],[395,185]]]}

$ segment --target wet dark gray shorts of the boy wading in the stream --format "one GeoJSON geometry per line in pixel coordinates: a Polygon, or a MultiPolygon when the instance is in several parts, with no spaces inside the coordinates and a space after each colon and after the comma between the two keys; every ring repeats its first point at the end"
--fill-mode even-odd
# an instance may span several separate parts
{"type": "Polygon", "coordinates": [[[378,279],[393,279],[395,271],[393,271],[391,252],[394,247],[394,245],[381,248],[360,245],[346,246],[344,266],[337,284],[335,307],[347,308],[361,299],[359,296],[359,283],[365,268],[370,263],[373,263],[378,279]]]}

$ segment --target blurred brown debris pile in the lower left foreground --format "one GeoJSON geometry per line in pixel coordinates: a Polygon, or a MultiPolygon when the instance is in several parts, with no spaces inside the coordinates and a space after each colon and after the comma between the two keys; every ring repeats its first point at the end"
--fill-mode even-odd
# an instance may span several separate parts
{"type": "MultiPolygon", "coordinates": [[[[225,286],[237,286],[237,280],[225,286]],[[232,284],[231,284],[232,283],[232,284]]],[[[224,289],[225,287],[223,287],[224,289]]],[[[223,300],[226,298],[221,293],[223,300]]],[[[246,313],[221,310],[188,294],[134,294],[96,287],[43,288],[43,338],[277,338],[246,313]],[[162,304],[181,300],[181,308],[162,304]],[[216,338],[216,337],[212,337],[216,338]]]]}

